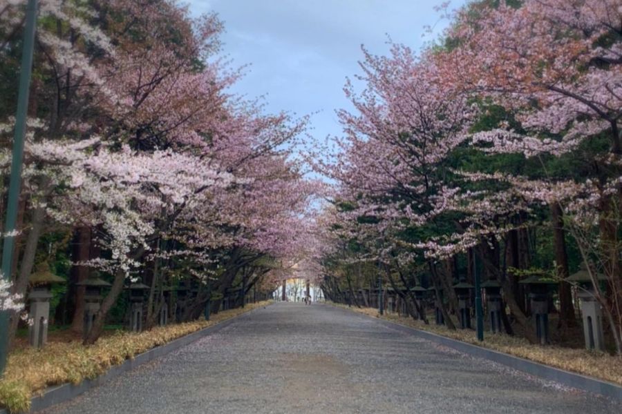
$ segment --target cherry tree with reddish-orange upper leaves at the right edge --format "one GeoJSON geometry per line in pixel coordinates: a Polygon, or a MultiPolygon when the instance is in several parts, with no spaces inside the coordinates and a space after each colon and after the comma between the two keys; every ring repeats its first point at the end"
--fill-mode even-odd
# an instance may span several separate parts
{"type": "MultiPolygon", "coordinates": [[[[596,259],[602,266],[612,295],[599,300],[609,310],[619,350],[621,6],[606,0],[534,0],[498,8],[482,3],[458,14],[448,35],[459,46],[439,56],[446,79],[494,99],[520,121],[521,130],[502,124],[473,141],[487,152],[540,159],[543,179],[516,177],[512,184],[529,202],[549,204],[556,226],[566,226],[583,246],[585,262],[596,259]],[[609,148],[592,149],[606,142],[609,148]],[[594,166],[583,183],[548,172],[551,156],[576,154],[594,166]]],[[[564,262],[563,248],[558,251],[564,262]]]]}

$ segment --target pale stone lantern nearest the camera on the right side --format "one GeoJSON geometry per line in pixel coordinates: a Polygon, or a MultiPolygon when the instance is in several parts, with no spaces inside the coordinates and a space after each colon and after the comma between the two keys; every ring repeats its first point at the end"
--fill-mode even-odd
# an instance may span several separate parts
{"type": "MultiPolygon", "coordinates": [[[[604,282],[607,277],[602,273],[596,273],[596,279],[604,282]]],[[[581,317],[583,319],[583,336],[585,337],[585,348],[604,351],[605,340],[603,337],[603,313],[601,304],[594,295],[594,284],[587,271],[585,262],[581,264],[578,272],[566,278],[568,282],[579,286],[577,296],[581,300],[581,317]]]]}

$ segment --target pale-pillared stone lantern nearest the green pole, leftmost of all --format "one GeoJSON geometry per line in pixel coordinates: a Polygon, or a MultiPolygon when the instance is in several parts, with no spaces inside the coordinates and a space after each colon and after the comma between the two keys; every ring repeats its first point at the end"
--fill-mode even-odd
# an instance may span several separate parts
{"type": "Polygon", "coordinates": [[[53,284],[65,283],[65,279],[50,272],[47,263],[37,266],[35,273],[28,277],[30,284],[30,326],[28,327],[28,340],[30,346],[41,348],[48,342],[48,319],[50,317],[51,288],[53,284]]]}

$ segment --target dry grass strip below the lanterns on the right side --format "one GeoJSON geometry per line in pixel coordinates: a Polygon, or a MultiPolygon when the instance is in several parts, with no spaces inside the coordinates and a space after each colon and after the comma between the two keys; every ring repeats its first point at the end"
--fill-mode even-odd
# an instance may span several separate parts
{"type": "Polygon", "coordinates": [[[444,326],[426,325],[423,322],[415,321],[411,317],[399,317],[396,314],[378,315],[376,308],[357,308],[347,305],[333,304],[351,311],[364,313],[368,316],[379,317],[390,322],[410,326],[411,328],[428,331],[458,341],[468,342],[482,346],[483,348],[493,349],[516,357],[529,359],[565,371],[571,371],[590,377],[599,378],[622,385],[622,357],[612,356],[598,351],[587,351],[587,349],[562,348],[560,346],[538,346],[530,344],[527,339],[521,337],[511,337],[502,334],[488,333],[484,337],[484,342],[479,342],[475,331],[457,330],[450,331],[444,326]]]}

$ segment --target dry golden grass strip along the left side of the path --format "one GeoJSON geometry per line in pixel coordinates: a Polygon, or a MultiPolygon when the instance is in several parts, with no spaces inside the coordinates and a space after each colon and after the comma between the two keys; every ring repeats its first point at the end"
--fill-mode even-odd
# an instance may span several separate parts
{"type": "Polygon", "coordinates": [[[201,319],[158,326],[141,333],[117,331],[100,338],[93,346],[83,346],[80,342],[50,342],[41,350],[17,350],[9,355],[5,375],[0,380],[0,407],[6,407],[10,413],[27,412],[32,395],[44,391],[47,386],[67,382],[79,384],[84,379],[93,379],[106,373],[111,366],[151,348],[270,303],[258,302],[222,311],[211,315],[209,321],[201,319]]]}

